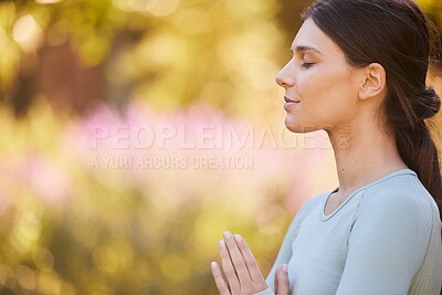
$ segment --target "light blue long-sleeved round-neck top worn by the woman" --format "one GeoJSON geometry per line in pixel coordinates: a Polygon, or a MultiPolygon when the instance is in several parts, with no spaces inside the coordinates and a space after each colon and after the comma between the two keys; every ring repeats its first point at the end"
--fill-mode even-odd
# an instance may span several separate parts
{"type": "Polygon", "coordinates": [[[326,215],[330,194],[301,208],[266,280],[270,288],[259,295],[274,294],[274,274],[284,263],[292,295],[440,294],[441,220],[414,171],[364,186],[326,215]]]}

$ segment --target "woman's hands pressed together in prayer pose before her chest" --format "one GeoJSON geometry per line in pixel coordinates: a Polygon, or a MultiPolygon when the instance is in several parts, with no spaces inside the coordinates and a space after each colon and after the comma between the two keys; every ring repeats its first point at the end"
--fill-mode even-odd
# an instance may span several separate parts
{"type": "MultiPolygon", "coordinates": [[[[219,242],[221,265],[211,263],[212,275],[220,295],[253,295],[269,288],[255,257],[244,239],[223,233],[219,242]]],[[[275,294],[288,295],[287,265],[281,265],[275,273],[275,294]]]]}

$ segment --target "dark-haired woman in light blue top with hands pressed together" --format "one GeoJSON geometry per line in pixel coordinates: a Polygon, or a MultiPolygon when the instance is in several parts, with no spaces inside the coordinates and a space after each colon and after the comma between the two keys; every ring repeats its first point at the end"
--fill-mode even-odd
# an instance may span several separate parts
{"type": "Polygon", "coordinates": [[[412,0],[319,0],[306,11],[276,82],[290,130],[327,131],[339,186],[302,207],[266,281],[244,240],[225,232],[222,270],[212,263],[221,295],[440,294],[430,38],[412,0]]]}

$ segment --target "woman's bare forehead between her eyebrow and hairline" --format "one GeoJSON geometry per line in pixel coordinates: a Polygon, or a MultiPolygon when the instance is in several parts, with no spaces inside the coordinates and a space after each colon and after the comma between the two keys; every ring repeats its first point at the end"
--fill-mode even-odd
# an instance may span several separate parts
{"type": "Polygon", "coordinates": [[[307,19],[301,27],[292,43],[292,50],[298,46],[315,48],[324,55],[339,54],[344,56],[344,52],[339,46],[328,35],[323,33],[312,19],[307,19]]]}

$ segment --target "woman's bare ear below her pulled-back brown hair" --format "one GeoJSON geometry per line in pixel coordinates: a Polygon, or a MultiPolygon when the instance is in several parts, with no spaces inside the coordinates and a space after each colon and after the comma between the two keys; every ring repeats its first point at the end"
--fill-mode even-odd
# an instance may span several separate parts
{"type": "Polygon", "coordinates": [[[380,95],[386,88],[386,70],[378,63],[371,63],[364,69],[359,98],[368,99],[380,95]]]}

